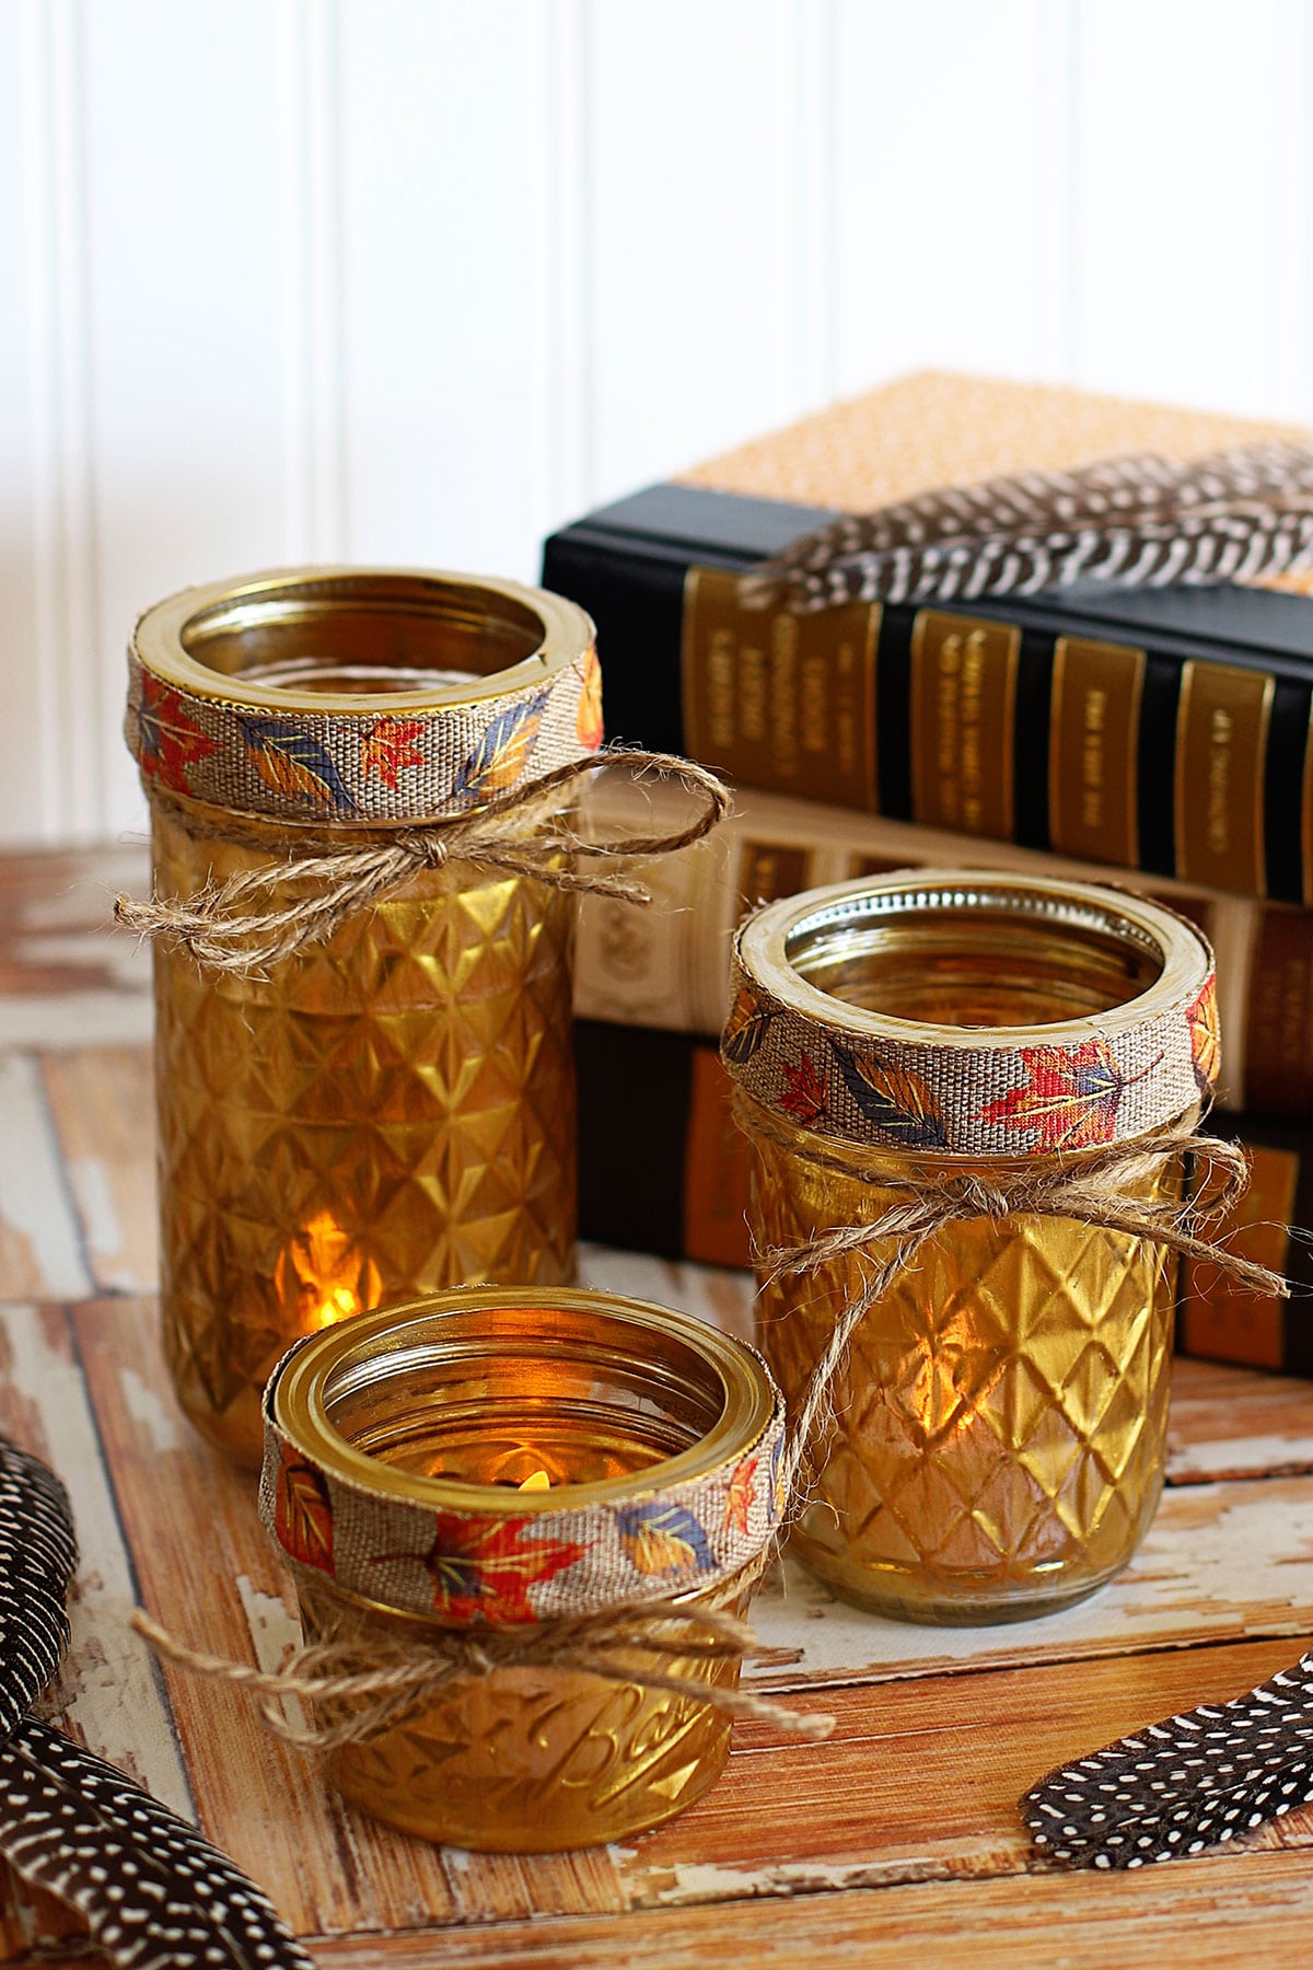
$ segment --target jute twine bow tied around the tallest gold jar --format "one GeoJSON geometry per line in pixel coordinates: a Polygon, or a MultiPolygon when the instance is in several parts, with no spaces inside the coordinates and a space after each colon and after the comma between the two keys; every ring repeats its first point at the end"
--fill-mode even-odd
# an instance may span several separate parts
{"type": "MultiPolygon", "coordinates": [[[[187,804],[152,790],[152,798],[193,841],[248,845],[250,833],[236,823],[197,816],[187,804]]],[[[368,908],[421,869],[443,869],[451,861],[504,869],[533,877],[551,888],[620,896],[652,902],[634,877],[618,871],[575,869],[573,857],[616,861],[644,855],[673,855],[711,833],[730,812],[722,782],[693,760],[669,753],[602,751],[569,760],[553,772],[484,802],[470,814],[423,821],[398,829],[386,843],[350,847],[344,831],[297,829],[283,859],[209,883],[193,896],[116,896],[114,918],[142,938],[161,938],[183,946],[213,971],[250,977],[266,965],[291,957],[307,944],[333,936],[348,916],[368,908]],[[626,766],[636,778],[652,776],[683,786],[701,806],[685,827],[665,833],[624,835],[594,841],[571,825],[567,796],[589,774],[626,766]],[[291,902],[270,906],[274,888],[293,883],[291,902]],[[264,904],[264,906],[262,906],[264,904]]],[[[260,821],[262,816],[244,816],[260,821]]]]}

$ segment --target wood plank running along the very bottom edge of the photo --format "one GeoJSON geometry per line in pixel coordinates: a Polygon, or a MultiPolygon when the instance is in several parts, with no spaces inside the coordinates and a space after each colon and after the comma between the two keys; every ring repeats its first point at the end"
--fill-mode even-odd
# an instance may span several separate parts
{"type": "Polygon", "coordinates": [[[703,1903],[604,1921],[317,1938],[323,1970],[1236,1970],[1303,1964],[1307,1856],[1199,1858],[1140,1873],[986,1881],[703,1903]]]}

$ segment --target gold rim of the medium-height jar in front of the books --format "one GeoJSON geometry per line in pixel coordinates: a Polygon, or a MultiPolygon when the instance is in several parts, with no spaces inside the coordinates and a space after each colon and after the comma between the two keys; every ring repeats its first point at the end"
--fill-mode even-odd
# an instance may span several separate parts
{"type": "Polygon", "coordinates": [[[998,1046],[1061,1046],[1079,1042],[1091,1030],[1091,1017],[1045,1020],[1026,1026],[945,1024],[876,1013],[852,1005],[813,985],[793,957],[809,932],[835,932],[896,922],[911,912],[965,914],[1002,910],[1055,928],[1079,928],[1112,936],[1157,963],[1144,991],[1096,1015],[1102,1034],[1132,1032],[1146,1018],[1179,1005],[1203,989],[1211,975],[1211,952],[1191,922],[1146,896],[1096,883],[1061,877],[1032,877],[990,869],[909,869],[882,877],[856,877],[825,888],[783,896],[758,910],[738,932],[738,955],[750,979],[787,1007],[835,1032],[880,1040],[909,1040],[972,1050],[998,1046]]]}

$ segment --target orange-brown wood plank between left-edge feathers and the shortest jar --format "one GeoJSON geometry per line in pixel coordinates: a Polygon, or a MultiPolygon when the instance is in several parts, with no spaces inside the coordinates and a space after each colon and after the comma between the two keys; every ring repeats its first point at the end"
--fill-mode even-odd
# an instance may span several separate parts
{"type": "MultiPolygon", "coordinates": [[[[142,1600],[199,1647],[272,1667],[295,1627],[256,1517],[254,1478],[211,1452],[179,1414],[154,1320],[124,1320],[130,1304],[81,1306],[75,1326],[142,1600]]],[[[205,1832],[297,1931],[622,1905],[608,1850],[461,1856],[406,1840],[346,1808],[244,1700],[173,1671],[165,1680],[205,1832]]]]}

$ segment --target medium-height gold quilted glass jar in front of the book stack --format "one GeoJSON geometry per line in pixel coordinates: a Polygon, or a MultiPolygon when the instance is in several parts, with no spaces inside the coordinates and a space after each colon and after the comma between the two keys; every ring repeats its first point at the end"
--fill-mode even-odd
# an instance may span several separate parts
{"type": "MultiPolygon", "coordinates": [[[[974,1172],[1079,1174],[1193,1121],[1213,957],[1136,896],[917,871],[772,904],[738,934],[722,1054],[754,1143],[752,1233],[803,1247],[974,1172]]],[[[1179,1198],[1181,1158],[1118,1176],[1179,1198]]],[[[762,1284],[795,1412],[892,1245],[762,1284]]],[[[813,1440],[791,1550],[915,1621],[1008,1621],[1126,1564],[1163,1479],[1175,1261],[1073,1215],[941,1225],[864,1314],[813,1440]]]]}

